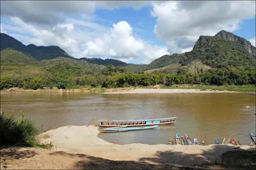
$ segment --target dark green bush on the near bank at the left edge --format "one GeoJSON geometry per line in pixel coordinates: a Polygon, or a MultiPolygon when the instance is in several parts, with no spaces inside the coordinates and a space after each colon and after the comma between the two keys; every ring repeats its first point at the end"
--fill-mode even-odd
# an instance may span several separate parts
{"type": "Polygon", "coordinates": [[[3,111],[0,115],[0,146],[30,146],[40,148],[52,148],[52,144],[41,144],[38,139],[40,129],[35,122],[25,118],[24,115],[15,119],[5,117],[3,111]]]}

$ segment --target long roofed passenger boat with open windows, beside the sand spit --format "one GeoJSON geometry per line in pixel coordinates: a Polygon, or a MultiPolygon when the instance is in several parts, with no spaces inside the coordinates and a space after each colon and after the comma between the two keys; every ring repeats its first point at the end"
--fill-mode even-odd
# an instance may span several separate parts
{"type": "Polygon", "coordinates": [[[127,125],[128,127],[150,126],[150,125],[168,125],[173,124],[177,117],[170,118],[154,118],[146,120],[100,120],[100,127],[118,127],[120,125],[127,125]]]}

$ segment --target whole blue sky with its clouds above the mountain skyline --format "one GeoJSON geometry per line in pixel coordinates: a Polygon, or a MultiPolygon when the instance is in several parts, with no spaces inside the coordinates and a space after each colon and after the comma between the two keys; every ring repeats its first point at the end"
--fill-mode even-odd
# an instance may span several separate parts
{"type": "Polygon", "coordinates": [[[222,29],[255,45],[255,1],[1,1],[1,32],[77,58],[148,64],[222,29]]]}

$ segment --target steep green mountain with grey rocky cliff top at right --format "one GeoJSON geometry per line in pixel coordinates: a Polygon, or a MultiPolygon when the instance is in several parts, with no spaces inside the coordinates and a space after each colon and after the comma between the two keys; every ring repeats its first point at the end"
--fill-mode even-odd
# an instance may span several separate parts
{"type": "Polygon", "coordinates": [[[177,66],[177,64],[184,67],[195,60],[215,68],[227,66],[255,68],[255,46],[231,32],[220,31],[215,36],[200,36],[191,52],[164,55],[153,60],[148,64],[147,70],[177,66]]]}

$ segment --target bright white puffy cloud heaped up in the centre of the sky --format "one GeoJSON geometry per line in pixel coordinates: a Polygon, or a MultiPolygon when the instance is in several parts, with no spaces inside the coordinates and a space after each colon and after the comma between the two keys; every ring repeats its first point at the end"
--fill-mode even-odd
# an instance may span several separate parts
{"type": "Polygon", "coordinates": [[[136,59],[145,56],[146,60],[154,60],[168,54],[167,48],[148,45],[142,39],[132,36],[132,27],[125,21],[113,24],[113,29],[95,41],[90,41],[84,51],[90,56],[109,56],[118,59],[136,59]]]}

